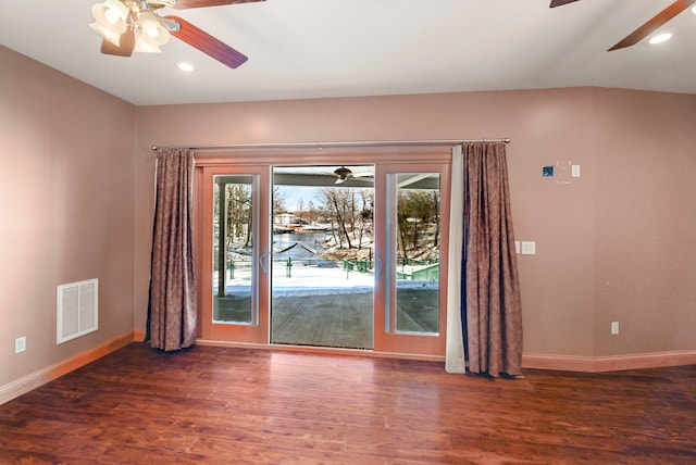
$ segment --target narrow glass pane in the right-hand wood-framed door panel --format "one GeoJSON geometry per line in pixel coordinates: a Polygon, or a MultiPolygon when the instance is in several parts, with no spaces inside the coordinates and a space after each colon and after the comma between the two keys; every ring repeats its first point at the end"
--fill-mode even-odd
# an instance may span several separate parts
{"type": "Polygon", "coordinates": [[[396,330],[438,332],[439,174],[396,180],[396,330]]]}

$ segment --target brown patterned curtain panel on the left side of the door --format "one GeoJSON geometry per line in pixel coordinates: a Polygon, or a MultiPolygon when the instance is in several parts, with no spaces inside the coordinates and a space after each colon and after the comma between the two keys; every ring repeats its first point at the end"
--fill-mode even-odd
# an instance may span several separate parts
{"type": "Polygon", "coordinates": [[[165,351],[196,341],[194,163],[190,150],[160,150],[157,155],[146,341],[165,351]]]}

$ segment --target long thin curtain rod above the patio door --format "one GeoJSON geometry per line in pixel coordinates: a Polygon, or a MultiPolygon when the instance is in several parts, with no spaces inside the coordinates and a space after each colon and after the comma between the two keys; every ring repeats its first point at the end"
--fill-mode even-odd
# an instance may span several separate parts
{"type": "Polygon", "coordinates": [[[244,150],[244,149],[331,149],[355,147],[418,147],[418,146],[458,146],[460,143],[475,142],[505,142],[510,138],[500,139],[434,139],[434,140],[363,140],[347,142],[279,142],[279,143],[231,143],[225,146],[152,146],[152,150],[244,150]]]}

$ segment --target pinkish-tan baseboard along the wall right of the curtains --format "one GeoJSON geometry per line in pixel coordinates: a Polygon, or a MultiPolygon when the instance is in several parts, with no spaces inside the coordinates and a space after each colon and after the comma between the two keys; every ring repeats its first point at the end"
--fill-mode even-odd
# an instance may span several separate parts
{"type": "Polygon", "coordinates": [[[534,353],[526,353],[522,355],[522,367],[524,368],[559,369],[564,372],[584,373],[660,368],[666,366],[694,364],[696,364],[696,351],[671,351],[607,356],[547,355],[534,353]]]}

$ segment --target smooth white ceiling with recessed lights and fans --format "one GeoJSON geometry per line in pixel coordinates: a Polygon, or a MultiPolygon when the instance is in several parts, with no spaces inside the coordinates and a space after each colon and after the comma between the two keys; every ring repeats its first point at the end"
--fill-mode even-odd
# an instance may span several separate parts
{"type": "Polygon", "coordinates": [[[175,38],[161,54],[102,55],[88,27],[97,0],[13,0],[2,5],[0,43],[138,105],[575,86],[696,93],[689,10],[663,26],[675,34],[666,43],[606,51],[672,1],[266,0],[162,11],[249,56],[232,70],[175,38]]]}

